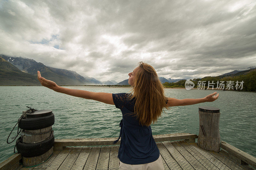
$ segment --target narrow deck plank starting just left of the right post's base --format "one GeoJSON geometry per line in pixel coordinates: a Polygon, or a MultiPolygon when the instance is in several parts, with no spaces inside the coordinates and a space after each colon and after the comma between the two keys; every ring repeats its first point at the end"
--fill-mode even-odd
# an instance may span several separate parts
{"type": "Polygon", "coordinates": [[[200,147],[197,146],[196,143],[190,143],[190,145],[196,149],[196,151],[198,151],[199,153],[201,153],[206,159],[208,159],[210,162],[212,162],[212,164],[214,164],[215,166],[217,166],[219,169],[228,169],[230,170],[230,168],[223,164],[219,159],[215,158],[212,154],[210,154],[208,151],[201,149],[200,147]]]}

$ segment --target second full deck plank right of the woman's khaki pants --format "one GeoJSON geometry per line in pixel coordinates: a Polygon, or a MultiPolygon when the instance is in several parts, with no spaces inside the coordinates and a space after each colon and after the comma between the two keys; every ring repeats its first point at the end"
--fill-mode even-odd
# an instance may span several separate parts
{"type": "Polygon", "coordinates": [[[175,161],[180,165],[182,169],[194,169],[189,164],[189,162],[180,154],[180,152],[175,149],[171,142],[163,142],[163,144],[169,151],[169,153],[172,155],[173,159],[175,159],[175,161]]]}

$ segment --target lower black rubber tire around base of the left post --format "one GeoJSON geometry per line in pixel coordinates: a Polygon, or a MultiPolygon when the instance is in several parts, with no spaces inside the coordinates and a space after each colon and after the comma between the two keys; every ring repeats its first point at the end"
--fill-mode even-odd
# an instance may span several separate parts
{"type": "Polygon", "coordinates": [[[34,144],[25,144],[21,142],[20,139],[21,137],[19,137],[16,141],[16,148],[18,153],[26,158],[40,156],[45,152],[49,151],[54,144],[54,135],[44,141],[34,144]]]}

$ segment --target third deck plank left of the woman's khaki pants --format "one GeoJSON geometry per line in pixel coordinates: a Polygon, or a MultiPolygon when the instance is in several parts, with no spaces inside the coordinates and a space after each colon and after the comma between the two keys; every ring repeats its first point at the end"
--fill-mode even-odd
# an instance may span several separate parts
{"type": "Polygon", "coordinates": [[[100,155],[100,146],[92,147],[88,159],[84,165],[84,169],[94,170],[100,155]]]}

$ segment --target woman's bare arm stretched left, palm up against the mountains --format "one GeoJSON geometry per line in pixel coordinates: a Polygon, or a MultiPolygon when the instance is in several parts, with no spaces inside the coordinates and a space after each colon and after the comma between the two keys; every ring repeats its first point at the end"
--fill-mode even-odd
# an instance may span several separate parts
{"type": "Polygon", "coordinates": [[[76,90],[76,89],[61,87],[61,86],[58,86],[55,82],[41,77],[40,71],[37,71],[37,79],[40,81],[41,85],[49,89],[52,89],[55,92],[60,92],[60,93],[64,93],[64,94],[68,94],[76,97],[81,97],[84,99],[97,100],[103,103],[115,105],[113,101],[112,93],[89,92],[86,90],[76,90]]]}

